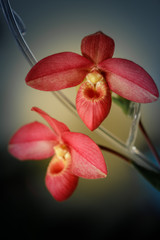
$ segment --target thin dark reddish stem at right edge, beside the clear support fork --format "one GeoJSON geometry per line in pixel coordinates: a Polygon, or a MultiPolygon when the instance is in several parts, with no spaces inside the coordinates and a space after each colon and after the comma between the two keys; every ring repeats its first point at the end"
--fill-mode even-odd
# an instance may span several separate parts
{"type": "Polygon", "coordinates": [[[141,132],[143,133],[143,135],[144,135],[144,137],[145,137],[145,139],[146,139],[146,142],[147,142],[150,150],[152,151],[153,155],[155,156],[157,162],[160,164],[160,157],[159,157],[159,155],[158,155],[158,153],[157,153],[157,150],[156,150],[156,148],[154,147],[151,139],[149,138],[149,136],[148,136],[148,134],[147,134],[147,132],[146,132],[143,124],[142,124],[141,119],[140,119],[140,121],[139,121],[139,128],[140,128],[141,132]]]}

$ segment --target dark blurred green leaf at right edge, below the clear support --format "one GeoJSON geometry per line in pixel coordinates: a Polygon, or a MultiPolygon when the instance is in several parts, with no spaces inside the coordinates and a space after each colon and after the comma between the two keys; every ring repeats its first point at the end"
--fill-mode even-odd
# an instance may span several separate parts
{"type": "Polygon", "coordinates": [[[154,172],[152,170],[146,169],[135,162],[133,162],[133,166],[148,182],[152,184],[152,186],[160,191],[160,172],[154,172]]]}

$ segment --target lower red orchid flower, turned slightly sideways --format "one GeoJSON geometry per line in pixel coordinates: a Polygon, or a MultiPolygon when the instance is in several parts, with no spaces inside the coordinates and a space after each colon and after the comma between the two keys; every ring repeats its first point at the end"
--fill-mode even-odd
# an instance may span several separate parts
{"type": "Polygon", "coordinates": [[[78,178],[104,178],[107,167],[104,157],[88,136],[70,132],[62,122],[33,107],[51,128],[39,122],[21,127],[9,142],[9,152],[19,160],[41,160],[53,156],[46,186],[57,201],[67,199],[75,190],[78,178]]]}

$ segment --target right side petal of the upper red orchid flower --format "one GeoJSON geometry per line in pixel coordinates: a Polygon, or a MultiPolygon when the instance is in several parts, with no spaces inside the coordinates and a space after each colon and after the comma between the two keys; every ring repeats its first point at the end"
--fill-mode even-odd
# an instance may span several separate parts
{"type": "Polygon", "coordinates": [[[108,85],[118,95],[140,103],[157,100],[159,93],[153,79],[136,63],[112,58],[103,61],[98,67],[107,72],[108,85]]]}

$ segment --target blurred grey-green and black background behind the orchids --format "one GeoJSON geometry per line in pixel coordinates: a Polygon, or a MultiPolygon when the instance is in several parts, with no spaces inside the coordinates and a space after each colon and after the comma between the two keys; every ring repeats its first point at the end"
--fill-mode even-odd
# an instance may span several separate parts
{"type": "MultiPolygon", "coordinates": [[[[115,41],[114,57],[141,65],[160,90],[159,0],[13,0],[11,3],[26,25],[25,39],[38,60],[63,51],[80,54],[81,39],[103,31],[115,41]]],[[[113,146],[87,130],[52,93],[26,86],[24,79],[30,65],[17,47],[2,10],[0,66],[0,184],[2,221],[8,229],[6,237],[38,239],[39,236],[54,238],[65,234],[71,238],[106,239],[119,235],[135,239],[159,233],[160,193],[123,160],[103,151],[107,178],[80,179],[73,196],[59,203],[45,187],[47,160],[19,162],[9,155],[8,141],[20,126],[35,120],[44,122],[30,111],[32,106],[40,107],[72,131],[113,146]]],[[[65,90],[65,94],[74,101],[76,90],[65,90]]],[[[159,109],[160,100],[142,105],[142,122],[158,150],[159,109]]],[[[130,119],[113,104],[103,125],[126,139],[130,119]]],[[[139,132],[136,144],[152,158],[139,132]]]]}

